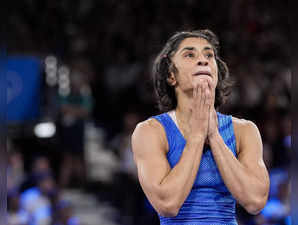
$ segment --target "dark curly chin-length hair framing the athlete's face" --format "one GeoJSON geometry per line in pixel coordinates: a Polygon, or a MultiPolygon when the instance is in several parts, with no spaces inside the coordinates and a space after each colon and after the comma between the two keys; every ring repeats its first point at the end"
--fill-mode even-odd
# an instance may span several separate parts
{"type": "Polygon", "coordinates": [[[204,38],[213,47],[215,60],[218,66],[218,84],[215,89],[215,108],[218,109],[225,103],[230,94],[233,81],[229,77],[227,64],[219,57],[219,41],[217,36],[207,29],[177,32],[170,37],[153,64],[153,86],[157,96],[158,108],[162,112],[170,111],[177,106],[174,87],[168,84],[167,78],[170,76],[170,72],[177,72],[174,63],[172,62],[172,57],[178,50],[180,43],[184,39],[190,37],[204,38]]]}

